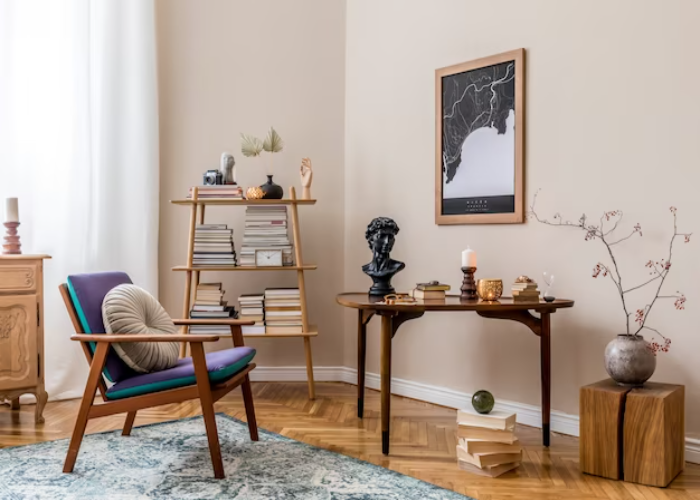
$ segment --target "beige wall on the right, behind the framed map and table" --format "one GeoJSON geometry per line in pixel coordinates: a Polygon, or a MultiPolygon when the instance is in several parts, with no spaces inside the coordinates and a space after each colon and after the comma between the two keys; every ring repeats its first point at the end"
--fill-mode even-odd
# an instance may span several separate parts
{"type": "MultiPolygon", "coordinates": [[[[628,283],[663,257],[670,205],[699,232],[700,45],[694,0],[352,0],[347,8],[345,286],[364,290],[370,259],[363,237],[376,216],[401,231],[395,285],[438,279],[458,288],[460,251],[478,252],[478,276],[557,276],[558,294],[576,300],[553,316],[552,406],[578,413],[578,388],[606,376],[603,351],[623,326],[610,282],[591,278],[604,259],[598,242],[575,230],[527,223],[434,224],[434,70],[519,47],[527,49],[527,199],[577,220],[620,208],[642,239],[620,245],[628,283]]],[[[700,265],[697,245],[681,245],[670,292],[687,310],[654,310],[653,325],[673,339],[653,380],[686,384],[687,428],[700,433],[700,265]]],[[[644,297],[634,297],[643,306],[644,297]]],[[[354,316],[346,317],[344,359],[355,366],[354,316]]],[[[369,369],[378,373],[378,322],[369,369]]],[[[427,315],[394,341],[396,377],[455,390],[487,388],[497,398],[539,404],[537,338],[516,323],[473,314],[427,315]]]]}

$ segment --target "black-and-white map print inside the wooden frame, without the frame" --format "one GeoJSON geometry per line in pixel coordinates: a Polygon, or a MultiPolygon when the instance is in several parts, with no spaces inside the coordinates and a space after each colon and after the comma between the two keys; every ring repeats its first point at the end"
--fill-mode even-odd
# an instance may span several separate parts
{"type": "Polygon", "coordinates": [[[442,78],[442,213],[515,210],[515,61],[442,78]]]}

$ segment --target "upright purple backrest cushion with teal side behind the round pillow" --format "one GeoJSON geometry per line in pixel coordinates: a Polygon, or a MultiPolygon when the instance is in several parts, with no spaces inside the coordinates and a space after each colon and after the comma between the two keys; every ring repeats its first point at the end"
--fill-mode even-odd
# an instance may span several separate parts
{"type": "MultiPolygon", "coordinates": [[[[131,283],[131,279],[126,273],[119,272],[68,276],[66,280],[68,292],[85,333],[105,333],[105,326],[102,322],[102,301],[112,288],[125,283],[131,283]]],[[[91,345],[90,347],[94,353],[95,346],[91,345]]],[[[110,382],[119,382],[133,377],[136,372],[129,368],[110,347],[104,374],[110,382]]]]}

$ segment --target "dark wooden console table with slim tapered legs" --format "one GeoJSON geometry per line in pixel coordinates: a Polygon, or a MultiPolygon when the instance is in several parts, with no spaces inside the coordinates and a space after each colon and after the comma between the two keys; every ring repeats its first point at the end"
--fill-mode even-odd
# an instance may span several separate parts
{"type": "Polygon", "coordinates": [[[549,397],[551,365],[551,314],[557,309],[572,307],[573,300],[558,299],[554,302],[513,302],[502,297],[497,302],[462,300],[448,295],[445,300],[418,301],[413,304],[383,303],[381,297],[366,293],[341,293],[336,301],[345,307],[358,310],[357,327],[357,416],[362,418],[365,389],[365,358],[367,353],[367,323],[375,314],[382,318],[381,327],[381,398],[382,398],[382,452],[389,453],[389,420],[391,398],[391,341],[404,322],[420,318],[426,311],[474,311],[479,316],[493,319],[509,319],[526,325],[540,338],[540,366],[542,378],[542,444],[549,446],[549,397]],[[530,311],[539,313],[540,317],[530,311]]]}

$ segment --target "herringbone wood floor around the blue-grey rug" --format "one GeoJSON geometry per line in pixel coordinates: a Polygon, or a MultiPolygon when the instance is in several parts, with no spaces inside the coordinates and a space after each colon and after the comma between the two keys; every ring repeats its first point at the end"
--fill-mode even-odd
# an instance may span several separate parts
{"type": "MultiPolygon", "coordinates": [[[[657,489],[583,475],[578,470],[578,440],[554,435],[549,450],[540,445],[540,431],[518,426],[525,445],[523,464],[514,472],[490,479],[462,472],[455,458],[455,410],[401,397],[392,399],[391,455],[381,453],[379,393],[368,390],[365,418],[357,418],[356,388],[342,383],[318,383],[317,399],[309,401],[305,383],[253,384],[258,425],[269,431],[360,458],[414,476],[479,500],[600,499],[700,500],[700,466],[686,470],[669,488],[657,489]]],[[[20,411],[0,405],[0,447],[66,438],[78,401],[49,403],[46,424],[35,426],[33,406],[20,411]]],[[[245,420],[236,390],[217,411],[245,420]]],[[[197,402],[162,406],[138,413],[136,426],[200,413],[197,402]]],[[[92,421],[88,432],[118,429],[123,417],[92,421]]],[[[204,429],[202,429],[204,432],[204,429]]],[[[133,433],[138,436],[138,430],[133,433]]],[[[80,468],[80,457],[76,469],[80,468]]],[[[1,473],[1,471],[0,471],[1,473]]]]}

